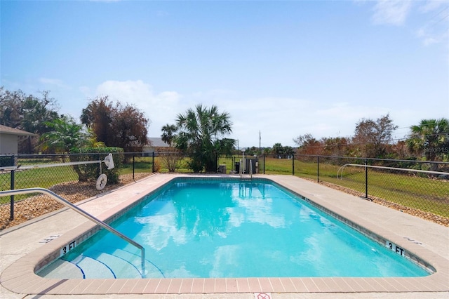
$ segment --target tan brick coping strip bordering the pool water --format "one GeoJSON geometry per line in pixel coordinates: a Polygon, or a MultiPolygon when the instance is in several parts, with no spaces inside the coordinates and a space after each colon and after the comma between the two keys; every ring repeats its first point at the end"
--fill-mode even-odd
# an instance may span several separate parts
{"type": "MultiPolygon", "coordinates": [[[[211,178],[210,175],[174,175],[172,178],[159,184],[159,187],[152,186],[155,191],[163,185],[168,184],[175,178],[195,177],[195,178],[211,178]]],[[[223,178],[224,176],[216,176],[223,178]]],[[[235,178],[233,176],[227,176],[235,178]]],[[[279,183],[276,177],[263,179],[276,182],[282,187],[297,194],[288,185],[279,183]]],[[[143,192],[142,192],[143,193],[143,192]]],[[[316,199],[310,199],[314,203],[316,199]]],[[[142,199],[142,195],[136,194],[133,197],[135,201],[142,199]]],[[[122,204],[117,206],[123,209],[122,204]]],[[[334,211],[338,213],[339,211],[334,211]]],[[[115,211],[115,210],[114,210],[115,211]]],[[[114,211],[101,213],[98,218],[107,219],[108,216],[115,215],[114,211]]],[[[342,216],[343,217],[343,216],[342,216]]],[[[346,215],[344,215],[346,219],[346,215]]],[[[358,217],[349,217],[351,222],[363,227],[363,219],[358,217]]],[[[372,223],[370,225],[373,225],[372,223]]],[[[416,244],[407,244],[407,240],[400,239],[400,236],[388,232],[381,227],[375,227],[374,233],[384,232],[384,239],[394,241],[396,244],[403,246],[426,260],[429,265],[436,269],[436,273],[427,277],[413,278],[351,278],[351,277],[270,277],[270,278],[236,278],[236,279],[44,279],[34,274],[34,270],[43,262],[50,261],[56,251],[60,250],[62,244],[80,236],[88,230],[92,230],[95,225],[91,223],[83,223],[73,230],[62,235],[60,238],[51,241],[41,248],[32,251],[20,258],[15,263],[6,267],[1,273],[0,281],[2,286],[14,293],[28,294],[161,294],[161,293],[254,293],[254,292],[274,292],[274,293],[356,293],[356,292],[429,292],[449,291],[449,263],[448,260],[441,255],[432,253],[427,248],[422,248],[416,244]],[[80,230],[83,232],[80,232],[80,230]],[[76,236],[75,236],[76,234],[76,236]],[[415,246],[416,245],[416,246],[415,246]],[[26,281],[26,284],[23,282],[26,281]]],[[[372,230],[372,228],[370,228],[372,230]]]]}

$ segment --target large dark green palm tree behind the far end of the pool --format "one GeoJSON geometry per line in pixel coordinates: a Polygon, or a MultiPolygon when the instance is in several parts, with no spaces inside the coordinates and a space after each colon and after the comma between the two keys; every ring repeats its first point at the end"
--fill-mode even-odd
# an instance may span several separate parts
{"type": "Polygon", "coordinates": [[[235,140],[224,136],[232,133],[232,123],[229,114],[219,113],[217,106],[196,105],[195,109],[178,114],[176,124],[179,133],[175,146],[192,159],[189,167],[194,172],[215,172],[218,155],[231,154],[235,140]]]}

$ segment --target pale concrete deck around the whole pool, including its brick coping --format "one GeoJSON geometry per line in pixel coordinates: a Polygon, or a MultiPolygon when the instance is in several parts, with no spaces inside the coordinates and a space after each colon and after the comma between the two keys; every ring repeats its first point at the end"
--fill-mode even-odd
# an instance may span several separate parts
{"type": "MultiPolygon", "coordinates": [[[[157,174],[77,205],[105,220],[169,180],[157,174]]],[[[193,175],[189,175],[193,176],[193,175]]],[[[232,176],[232,175],[195,175],[232,176]]],[[[34,267],[95,225],[62,210],[0,232],[0,298],[449,298],[449,227],[302,180],[293,175],[257,175],[301,194],[366,232],[436,269],[427,277],[281,277],[238,279],[44,279],[34,267]],[[60,235],[52,239],[51,236],[60,235]],[[44,240],[52,239],[45,243],[44,240]],[[260,296],[264,298],[264,295],[260,296]],[[268,297],[265,297],[268,298],[268,297]]]]}

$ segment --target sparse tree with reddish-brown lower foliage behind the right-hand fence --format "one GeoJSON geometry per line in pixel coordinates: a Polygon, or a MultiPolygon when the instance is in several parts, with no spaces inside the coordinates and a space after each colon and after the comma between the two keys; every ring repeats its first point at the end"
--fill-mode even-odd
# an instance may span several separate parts
{"type": "Polygon", "coordinates": [[[376,119],[361,119],[356,124],[354,142],[361,145],[366,158],[382,158],[387,154],[387,145],[398,126],[393,124],[389,114],[376,119]]]}

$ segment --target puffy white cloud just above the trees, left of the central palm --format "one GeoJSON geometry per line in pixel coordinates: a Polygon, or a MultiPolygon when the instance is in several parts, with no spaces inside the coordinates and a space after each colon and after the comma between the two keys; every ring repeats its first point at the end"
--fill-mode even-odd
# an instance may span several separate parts
{"type": "Polygon", "coordinates": [[[177,113],[185,105],[180,102],[182,96],[175,91],[154,93],[153,87],[142,80],[105,81],[95,92],[98,96],[108,95],[110,100],[134,105],[150,119],[149,136],[159,137],[161,127],[173,124],[177,113]]]}

